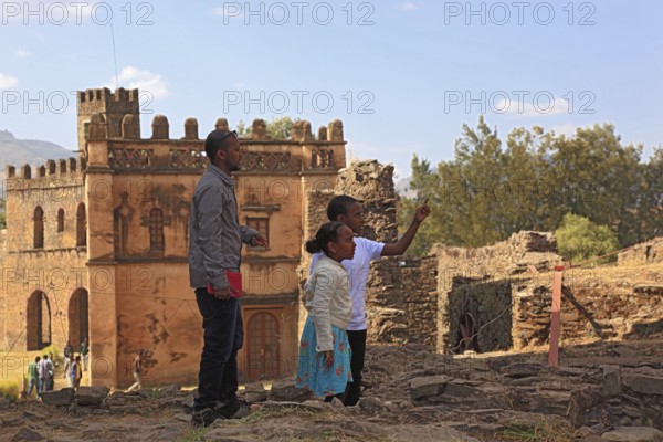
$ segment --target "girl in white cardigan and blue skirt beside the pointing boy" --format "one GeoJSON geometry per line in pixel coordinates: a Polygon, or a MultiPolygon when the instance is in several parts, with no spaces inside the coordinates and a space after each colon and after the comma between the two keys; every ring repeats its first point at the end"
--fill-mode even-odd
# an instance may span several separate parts
{"type": "Polygon", "coordinates": [[[296,386],[308,388],[328,400],[343,400],[352,380],[350,346],[346,328],[352,316],[348,273],[340,264],[355,255],[352,230],[341,222],[328,222],[306,242],[308,253],[324,252],[304,286],[308,312],[302,339],[296,386]]]}

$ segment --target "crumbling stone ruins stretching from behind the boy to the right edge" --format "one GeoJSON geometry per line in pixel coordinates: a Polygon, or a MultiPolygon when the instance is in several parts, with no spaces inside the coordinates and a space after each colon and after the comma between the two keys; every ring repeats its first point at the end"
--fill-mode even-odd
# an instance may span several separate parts
{"type": "MultiPolygon", "coordinates": [[[[315,232],[326,222],[325,209],[335,194],[349,194],[365,207],[362,235],[396,241],[398,196],[392,175],[391,165],[375,160],[357,161],[339,170],[333,191],[312,191],[308,231],[315,232]]],[[[620,264],[661,262],[662,246],[661,240],[635,246],[620,255],[620,264]]],[[[423,344],[441,354],[546,345],[552,270],[560,264],[555,236],[534,231],[514,233],[491,246],[435,244],[423,259],[382,259],[371,264],[367,283],[368,341],[423,344]]],[[[561,338],[566,343],[663,329],[659,319],[663,317],[659,303],[662,287],[614,287],[594,273],[578,269],[565,272],[561,338]]]]}

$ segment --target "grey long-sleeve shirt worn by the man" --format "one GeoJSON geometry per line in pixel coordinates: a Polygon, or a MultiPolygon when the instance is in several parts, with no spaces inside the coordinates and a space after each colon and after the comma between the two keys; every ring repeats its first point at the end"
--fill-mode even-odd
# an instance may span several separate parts
{"type": "Polygon", "coordinates": [[[189,232],[189,283],[193,288],[229,285],[225,271],[239,272],[242,242],[257,231],[240,225],[234,180],[214,165],[193,191],[189,232]]]}

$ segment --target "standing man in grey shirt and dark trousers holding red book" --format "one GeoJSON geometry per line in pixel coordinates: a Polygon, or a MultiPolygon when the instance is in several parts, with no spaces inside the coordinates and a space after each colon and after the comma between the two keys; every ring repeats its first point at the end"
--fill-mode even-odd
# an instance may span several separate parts
{"type": "Polygon", "coordinates": [[[238,350],[244,340],[236,288],[225,272],[239,272],[242,242],[267,245],[257,231],[240,227],[234,180],[242,152],[235,131],[213,130],[204,141],[210,166],[191,201],[189,278],[202,315],[203,341],[192,423],[243,418],[249,404],[236,397],[238,350]],[[209,290],[208,290],[209,287],[209,290]]]}

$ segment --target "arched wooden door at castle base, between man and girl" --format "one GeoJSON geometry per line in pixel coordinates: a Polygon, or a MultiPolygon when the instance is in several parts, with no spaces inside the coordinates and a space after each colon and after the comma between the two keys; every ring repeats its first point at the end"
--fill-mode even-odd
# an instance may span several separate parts
{"type": "Polygon", "coordinates": [[[281,333],[278,320],[267,312],[251,316],[246,327],[249,379],[275,379],[281,376],[281,333]]]}

